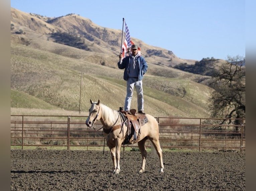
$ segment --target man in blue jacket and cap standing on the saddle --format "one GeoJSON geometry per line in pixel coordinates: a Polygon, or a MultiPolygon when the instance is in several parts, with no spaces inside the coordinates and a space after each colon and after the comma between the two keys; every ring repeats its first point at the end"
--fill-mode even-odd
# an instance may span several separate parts
{"type": "Polygon", "coordinates": [[[120,61],[117,63],[119,69],[124,69],[124,80],[126,81],[126,98],[124,102],[124,110],[127,114],[131,114],[130,107],[135,86],[137,92],[138,112],[144,112],[144,98],[142,88],[142,78],[147,72],[147,63],[145,59],[138,54],[138,46],[132,45],[132,53],[126,56],[122,61],[122,53],[119,55],[120,61]]]}

